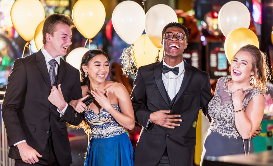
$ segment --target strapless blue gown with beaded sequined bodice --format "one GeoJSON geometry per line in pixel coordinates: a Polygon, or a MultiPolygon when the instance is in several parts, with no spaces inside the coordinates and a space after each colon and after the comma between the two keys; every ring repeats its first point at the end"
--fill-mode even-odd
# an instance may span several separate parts
{"type": "MultiPolygon", "coordinates": [[[[120,111],[119,105],[112,105],[120,111]]],[[[98,115],[92,110],[84,112],[85,121],[91,128],[85,166],[132,166],[134,150],[130,139],[109,112],[103,109],[98,115]]]]}

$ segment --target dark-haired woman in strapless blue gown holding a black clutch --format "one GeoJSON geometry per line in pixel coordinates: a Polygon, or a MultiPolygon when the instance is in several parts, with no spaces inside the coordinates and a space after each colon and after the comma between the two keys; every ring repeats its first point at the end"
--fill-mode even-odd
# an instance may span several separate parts
{"type": "Polygon", "coordinates": [[[132,166],[134,151],[125,128],[134,128],[134,111],[126,88],[105,81],[109,74],[108,57],[102,50],[89,50],[81,61],[82,96],[69,104],[84,112],[79,125],[91,133],[85,166],[132,166]],[[91,104],[82,100],[94,96],[91,104]]]}

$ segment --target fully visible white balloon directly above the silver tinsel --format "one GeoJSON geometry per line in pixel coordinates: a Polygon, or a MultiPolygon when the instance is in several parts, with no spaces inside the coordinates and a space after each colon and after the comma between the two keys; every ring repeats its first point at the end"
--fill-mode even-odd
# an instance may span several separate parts
{"type": "Polygon", "coordinates": [[[123,41],[134,44],[144,30],[145,12],[134,1],[123,1],[113,11],[112,23],[116,33],[123,41]]]}

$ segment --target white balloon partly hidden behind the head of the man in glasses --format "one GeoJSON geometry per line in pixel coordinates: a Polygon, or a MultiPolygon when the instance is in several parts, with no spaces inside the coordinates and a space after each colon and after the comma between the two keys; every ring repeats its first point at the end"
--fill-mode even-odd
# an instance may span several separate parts
{"type": "Polygon", "coordinates": [[[161,48],[162,30],[171,22],[178,22],[175,11],[168,5],[152,6],[145,16],[145,32],[152,43],[161,48]]]}

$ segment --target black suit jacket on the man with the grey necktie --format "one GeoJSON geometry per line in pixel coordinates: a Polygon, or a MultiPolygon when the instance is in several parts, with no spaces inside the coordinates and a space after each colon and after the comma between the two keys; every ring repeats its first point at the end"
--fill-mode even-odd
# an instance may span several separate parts
{"type": "MultiPolygon", "coordinates": [[[[63,59],[58,66],[57,85],[61,84],[66,102],[82,97],[80,74],[63,59]]],[[[46,61],[41,50],[24,58],[16,59],[8,77],[8,85],[2,105],[3,121],[7,131],[8,157],[21,159],[13,144],[26,140],[27,144],[42,154],[51,129],[55,154],[60,165],[72,163],[71,148],[66,122],[78,125],[82,114],[68,105],[60,118],[57,107],[48,96],[51,82],[46,61]]]]}

